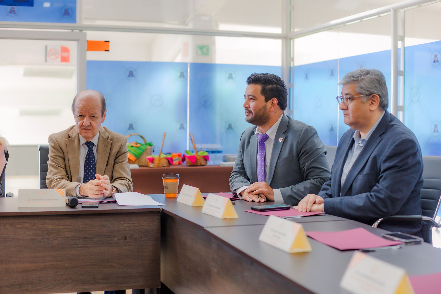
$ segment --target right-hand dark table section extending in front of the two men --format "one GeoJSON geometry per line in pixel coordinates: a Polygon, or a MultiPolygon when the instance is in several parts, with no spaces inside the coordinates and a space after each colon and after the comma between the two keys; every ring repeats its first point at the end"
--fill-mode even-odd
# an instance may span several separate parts
{"type": "MultiPolygon", "coordinates": [[[[233,207],[239,218],[221,220],[203,214],[200,206],[183,205],[164,195],[152,197],[165,201],[161,212],[161,282],[176,294],[348,293],[339,284],[354,250],[340,251],[308,238],[310,253],[289,254],[259,242],[268,217],[244,212],[256,203],[238,200],[233,207]]],[[[295,221],[302,223],[305,231],[363,227],[377,235],[385,232],[330,215],[295,221]]],[[[408,275],[441,272],[441,250],[428,243],[368,254],[406,269],[408,275]]]]}

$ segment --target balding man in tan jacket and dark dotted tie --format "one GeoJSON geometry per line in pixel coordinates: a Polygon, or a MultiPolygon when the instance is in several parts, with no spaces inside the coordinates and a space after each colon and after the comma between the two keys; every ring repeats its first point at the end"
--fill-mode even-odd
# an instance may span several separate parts
{"type": "Polygon", "coordinates": [[[132,191],[127,139],[101,126],[106,117],[101,93],[78,93],[72,112],[75,126],[49,136],[48,188],[91,198],[132,191]]]}

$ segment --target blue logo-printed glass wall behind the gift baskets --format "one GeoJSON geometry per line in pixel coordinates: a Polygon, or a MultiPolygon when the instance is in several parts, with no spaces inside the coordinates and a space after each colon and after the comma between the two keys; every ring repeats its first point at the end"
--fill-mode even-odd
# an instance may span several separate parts
{"type": "MultiPolygon", "coordinates": [[[[220,144],[224,153],[236,153],[240,135],[251,126],[242,107],[246,80],[258,71],[280,75],[281,67],[90,60],[87,89],[106,98],[103,126],[124,135],[141,134],[153,142],[155,153],[164,132],[163,152],[186,149],[187,105],[189,132],[197,144],[220,144]]],[[[135,140],[141,139],[129,138],[135,140]]]]}

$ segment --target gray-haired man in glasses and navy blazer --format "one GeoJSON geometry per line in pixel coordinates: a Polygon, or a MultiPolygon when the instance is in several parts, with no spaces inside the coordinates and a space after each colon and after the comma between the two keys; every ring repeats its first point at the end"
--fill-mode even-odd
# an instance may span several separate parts
{"type": "MultiPolygon", "coordinates": [[[[421,215],[421,149],[415,134],[386,110],[384,75],[360,68],[339,85],[343,89],[337,101],[351,129],[338,143],[329,181],[295,208],[370,225],[384,216],[421,215]]],[[[379,227],[422,235],[422,223],[384,222],[379,227]]]]}

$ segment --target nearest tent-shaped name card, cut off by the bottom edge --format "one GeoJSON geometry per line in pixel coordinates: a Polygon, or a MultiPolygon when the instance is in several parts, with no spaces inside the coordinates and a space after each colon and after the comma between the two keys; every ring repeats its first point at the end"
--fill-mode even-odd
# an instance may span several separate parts
{"type": "Polygon", "coordinates": [[[403,268],[355,251],[340,287],[354,294],[414,294],[403,268]]]}

